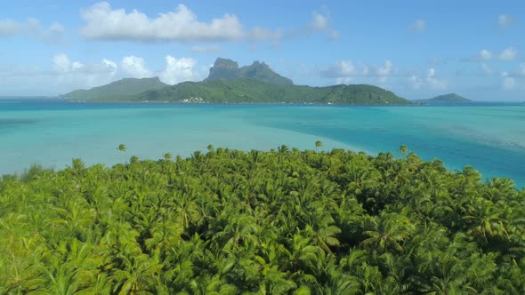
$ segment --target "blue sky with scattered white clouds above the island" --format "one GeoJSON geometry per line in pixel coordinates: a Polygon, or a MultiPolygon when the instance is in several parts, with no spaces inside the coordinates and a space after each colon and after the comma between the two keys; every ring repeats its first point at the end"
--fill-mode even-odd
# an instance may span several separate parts
{"type": "Polygon", "coordinates": [[[222,57],[295,84],[525,101],[521,0],[1,1],[0,96],[200,81],[222,57]]]}

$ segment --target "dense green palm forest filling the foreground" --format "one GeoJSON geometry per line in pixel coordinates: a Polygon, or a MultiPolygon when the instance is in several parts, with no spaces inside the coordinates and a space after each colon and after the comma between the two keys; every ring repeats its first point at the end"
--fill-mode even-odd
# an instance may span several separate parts
{"type": "Polygon", "coordinates": [[[525,294],[512,180],[405,148],[208,149],[4,176],[0,294],[525,294]]]}

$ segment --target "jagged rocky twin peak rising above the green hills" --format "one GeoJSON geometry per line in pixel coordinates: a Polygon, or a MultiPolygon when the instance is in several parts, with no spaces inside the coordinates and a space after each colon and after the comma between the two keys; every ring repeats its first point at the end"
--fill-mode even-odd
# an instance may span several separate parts
{"type": "Polygon", "coordinates": [[[214,66],[205,81],[216,79],[252,79],[261,82],[291,85],[294,82],[287,77],[280,76],[264,62],[254,61],[249,66],[238,68],[238,62],[234,60],[217,58],[214,66]]]}

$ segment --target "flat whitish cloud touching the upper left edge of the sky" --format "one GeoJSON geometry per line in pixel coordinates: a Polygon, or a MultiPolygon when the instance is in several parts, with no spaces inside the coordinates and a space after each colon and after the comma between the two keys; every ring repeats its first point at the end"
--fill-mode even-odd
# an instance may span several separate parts
{"type": "Polygon", "coordinates": [[[55,42],[63,35],[65,28],[58,22],[43,27],[34,18],[26,21],[0,20],[0,37],[26,36],[43,42],[55,42]]]}

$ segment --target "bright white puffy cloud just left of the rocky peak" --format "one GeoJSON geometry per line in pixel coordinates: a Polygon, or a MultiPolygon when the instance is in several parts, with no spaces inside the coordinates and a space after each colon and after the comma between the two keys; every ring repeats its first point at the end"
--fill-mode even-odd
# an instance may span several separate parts
{"type": "Polygon", "coordinates": [[[194,70],[196,60],[190,58],[175,59],[166,56],[166,68],[158,74],[160,81],[166,84],[178,84],[184,81],[198,80],[198,73],[194,70]]]}

